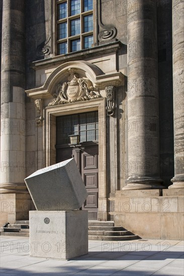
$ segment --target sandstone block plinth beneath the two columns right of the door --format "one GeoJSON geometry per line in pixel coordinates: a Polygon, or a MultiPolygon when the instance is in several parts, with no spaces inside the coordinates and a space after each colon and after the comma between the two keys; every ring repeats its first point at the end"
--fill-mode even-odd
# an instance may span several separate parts
{"type": "Polygon", "coordinates": [[[117,191],[111,203],[115,226],[141,238],[183,240],[182,190],[117,191]]]}

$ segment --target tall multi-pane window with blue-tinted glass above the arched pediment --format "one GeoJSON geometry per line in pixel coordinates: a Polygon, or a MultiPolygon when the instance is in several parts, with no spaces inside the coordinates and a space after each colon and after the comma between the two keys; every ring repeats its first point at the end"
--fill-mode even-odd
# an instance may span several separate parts
{"type": "Polygon", "coordinates": [[[56,0],[57,54],[90,48],[94,43],[93,0],[56,0]]]}

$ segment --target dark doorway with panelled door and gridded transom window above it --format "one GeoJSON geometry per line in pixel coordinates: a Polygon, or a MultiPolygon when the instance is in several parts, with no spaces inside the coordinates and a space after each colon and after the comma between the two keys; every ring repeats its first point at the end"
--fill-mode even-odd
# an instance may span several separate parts
{"type": "Polygon", "coordinates": [[[88,193],[82,209],[91,220],[98,214],[98,141],[98,111],[56,117],[56,162],[75,158],[88,193]],[[72,134],[80,135],[79,145],[69,145],[72,134]]]}

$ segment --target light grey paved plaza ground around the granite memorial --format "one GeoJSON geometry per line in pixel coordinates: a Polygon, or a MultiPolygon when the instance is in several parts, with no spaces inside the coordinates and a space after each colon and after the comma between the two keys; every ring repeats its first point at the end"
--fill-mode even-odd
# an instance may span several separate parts
{"type": "Polygon", "coordinates": [[[87,255],[71,260],[58,260],[30,257],[29,238],[0,238],[1,276],[184,275],[184,243],[179,240],[89,240],[87,255]]]}

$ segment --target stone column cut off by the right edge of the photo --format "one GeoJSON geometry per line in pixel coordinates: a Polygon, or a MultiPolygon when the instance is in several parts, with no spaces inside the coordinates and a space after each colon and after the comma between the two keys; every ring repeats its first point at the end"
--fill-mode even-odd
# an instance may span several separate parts
{"type": "Polygon", "coordinates": [[[174,112],[174,177],[169,188],[184,188],[184,3],[172,1],[172,67],[174,112]]]}

